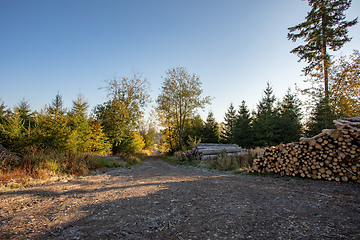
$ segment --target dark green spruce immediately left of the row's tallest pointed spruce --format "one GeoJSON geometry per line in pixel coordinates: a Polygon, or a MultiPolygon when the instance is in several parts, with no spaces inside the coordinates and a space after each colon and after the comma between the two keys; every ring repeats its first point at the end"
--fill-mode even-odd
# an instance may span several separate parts
{"type": "Polygon", "coordinates": [[[240,147],[250,148],[254,144],[253,140],[250,112],[246,102],[242,101],[234,123],[232,142],[240,147]]]}

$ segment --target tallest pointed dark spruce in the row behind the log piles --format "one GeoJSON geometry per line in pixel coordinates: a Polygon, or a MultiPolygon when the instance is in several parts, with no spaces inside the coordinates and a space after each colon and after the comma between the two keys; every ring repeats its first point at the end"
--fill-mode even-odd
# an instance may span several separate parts
{"type": "Polygon", "coordinates": [[[278,111],[274,107],[276,97],[270,83],[267,83],[264,94],[257,104],[257,112],[254,113],[254,144],[255,146],[274,146],[281,142],[281,126],[278,111]]]}

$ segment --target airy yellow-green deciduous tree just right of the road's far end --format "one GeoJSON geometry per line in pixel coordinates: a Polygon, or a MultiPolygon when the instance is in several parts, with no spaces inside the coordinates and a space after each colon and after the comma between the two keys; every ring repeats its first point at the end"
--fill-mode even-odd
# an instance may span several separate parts
{"type": "Polygon", "coordinates": [[[190,74],[183,67],[167,70],[163,79],[156,100],[156,113],[166,131],[176,132],[177,147],[180,148],[187,121],[194,117],[197,109],[210,103],[210,97],[201,96],[203,90],[199,76],[190,74]]]}

